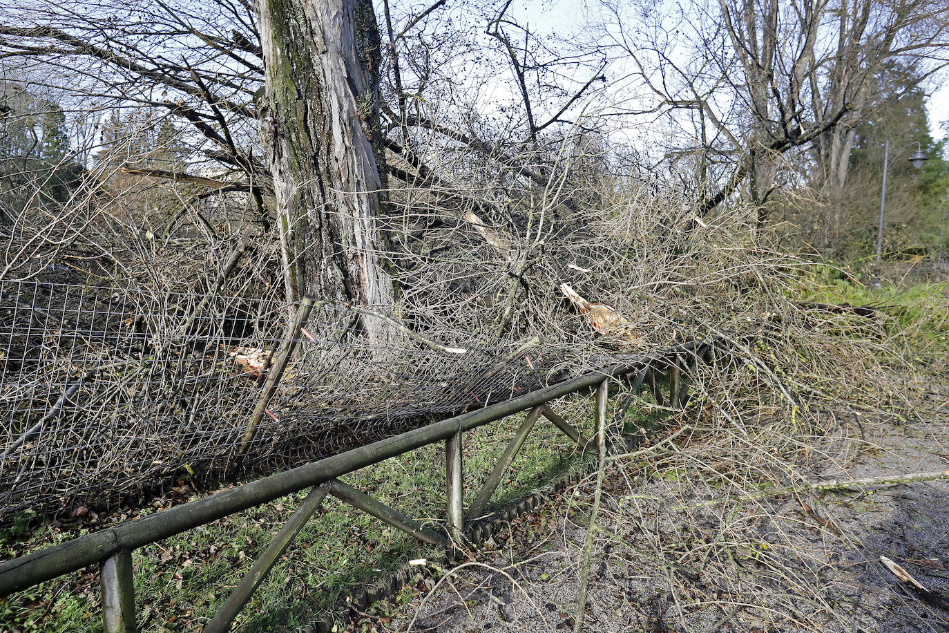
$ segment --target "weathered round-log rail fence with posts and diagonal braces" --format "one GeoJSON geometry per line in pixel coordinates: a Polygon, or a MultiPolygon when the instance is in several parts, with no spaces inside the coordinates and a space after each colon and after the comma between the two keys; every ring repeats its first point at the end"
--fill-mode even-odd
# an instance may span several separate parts
{"type": "MultiPolygon", "coordinates": [[[[332,493],[351,506],[368,512],[429,543],[448,545],[452,541],[470,538],[473,534],[471,531],[466,532],[466,524],[471,527],[473,525],[471,520],[484,512],[497,482],[510,466],[513,456],[516,455],[537,419],[542,415],[548,417],[571,440],[581,445],[587,443],[586,438],[583,438],[567,420],[559,418],[550,410],[549,402],[597,387],[596,429],[593,441],[602,445],[605,442],[608,424],[605,416],[605,400],[607,383],[610,380],[629,382],[628,386],[632,394],[646,383],[652,388],[658,401],[678,408],[685,404],[686,377],[692,374],[697,363],[715,362],[716,358],[720,358],[726,350],[727,343],[720,338],[715,338],[656,350],[637,358],[628,358],[598,371],[586,372],[570,380],[555,382],[523,395],[489,404],[476,411],[441,419],[427,426],[367,443],[284,473],[270,475],[243,486],[141,517],[136,521],[121,523],[87,534],[61,545],[0,564],[0,595],[8,595],[12,591],[98,563],[101,569],[102,617],[106,633],[134,631],[136,616],[132,580],[133,550],[234,512],[312,487],[311,492],[297,512],[291,516],[284,529],[273,539],[270,547],[254,564],[244,581],[234,589],[231,597],[221,606],[211,623],[204,628],[206,632],[226,631],[242,606],[251,598],[251,594],[259,586],[263,577],[279,559],[288,543],[307,522],[308,517],[320,507],[327,493],[332,493]],[[661,395],[657,382],[659,375],[665,375],[668,378],[668,400],[661,395]],[[530,410],[528,417],[515,433],[504,455],[498,460],[492,475],[488,477],[474,502],[465,512],[462,506],[462,434],[525,410],[530,410]],[[442,440],[445,441],[446,447],[447,480],[446,533],[444,534],[422,527],[414,519],[382,505],[337,479],[364,466],[442,440]]],[[[621,409],[628,405],[627,398],[621,409]]]]}

